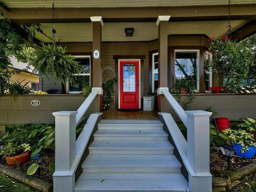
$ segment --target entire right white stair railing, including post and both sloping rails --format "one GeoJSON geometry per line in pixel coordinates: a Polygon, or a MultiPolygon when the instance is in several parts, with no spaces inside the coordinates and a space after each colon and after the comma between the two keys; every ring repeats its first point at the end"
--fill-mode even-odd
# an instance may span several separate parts
{"type": "Polygon", "coordinates": [[[172,115],[159,113],[181,156],[188,172],[189,192],[211,192],[209,159],[209,117],[206,111],[184,111],[168,88],[159,88],[158,94],[164,95],[181,121],[187,127],[187,141],[183,137],[172,115]]]}

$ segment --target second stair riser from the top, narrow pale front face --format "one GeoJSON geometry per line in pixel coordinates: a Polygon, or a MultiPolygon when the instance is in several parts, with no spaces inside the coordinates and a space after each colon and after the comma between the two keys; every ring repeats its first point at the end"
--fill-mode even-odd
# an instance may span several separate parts
{"type": "Polygon", "coordinates": [[[153,136],[153,137],[142,137],[142,136],[94,136],[95,141],[167,141],[166,136],[153,136]]]}

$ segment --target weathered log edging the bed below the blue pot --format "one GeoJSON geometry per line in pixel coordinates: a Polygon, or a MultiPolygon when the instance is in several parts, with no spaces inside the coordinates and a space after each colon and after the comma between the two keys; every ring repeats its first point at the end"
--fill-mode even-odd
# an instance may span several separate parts
{"type": "Polygon", "coordinates": [[[247,175],[250,175],[252,173],[256,172],[256,163],[251,163],[249,165],[246,165],[242,168],[239,168],[236,173],[232,174],[230,176],[231,182],[237,181],[239,179],[244,178],[247,175]]]}

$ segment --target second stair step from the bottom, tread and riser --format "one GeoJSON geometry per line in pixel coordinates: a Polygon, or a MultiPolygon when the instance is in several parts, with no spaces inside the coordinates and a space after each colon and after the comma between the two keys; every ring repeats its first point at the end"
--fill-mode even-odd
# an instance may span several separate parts
{"type": "Polygon", "coordinates": [[[174,172],[181,164],[174,155],[89,155],[83,172],[174,172]]]}

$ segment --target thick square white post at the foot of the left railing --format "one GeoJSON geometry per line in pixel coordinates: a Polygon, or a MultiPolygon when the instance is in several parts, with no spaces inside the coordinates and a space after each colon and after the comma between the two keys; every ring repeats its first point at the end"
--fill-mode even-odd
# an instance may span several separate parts
{"type": "Polygon", "coordinates": [[[53,113],[55,116],[54,192],[74,191],[75,177],[69,174],[69,170],[75,159],[76,114],[76,111],[53,113]]]}

